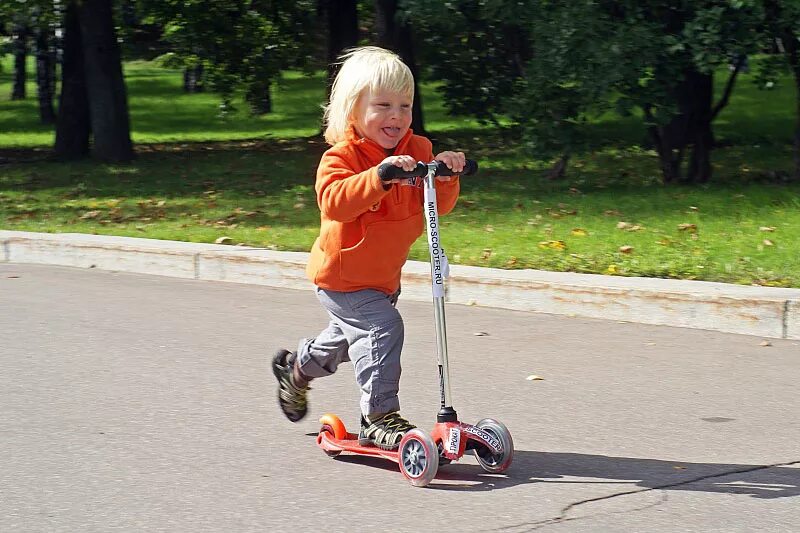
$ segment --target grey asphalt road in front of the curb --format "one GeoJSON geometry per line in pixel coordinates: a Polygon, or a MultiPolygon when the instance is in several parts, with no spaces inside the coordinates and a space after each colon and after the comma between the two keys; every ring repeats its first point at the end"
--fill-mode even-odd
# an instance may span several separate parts
{"type": "MultiPolygon", "coordinates": [[[[430,428],[432,306],[399,307],[430,428]]],[[[349,365],[278,410],[269,355],[326,323],[310,290],[1,264],[0,531],[800,530],[800,342],[447,311],[454,407],[515,461],[419,489],[316,447],[322,413],[357,423],[349,365]]]]}

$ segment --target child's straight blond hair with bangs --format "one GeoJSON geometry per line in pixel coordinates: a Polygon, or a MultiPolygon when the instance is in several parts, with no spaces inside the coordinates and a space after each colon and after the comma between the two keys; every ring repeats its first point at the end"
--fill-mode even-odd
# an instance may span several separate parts
{"type": "Polygon", "coordinates": [[[348,125],[354,120],[358,99],[365,90],[387,90],[414,99],[414,76],[394,52],[364,46],[349,50],[339,58],[341,68],[333,81],[331,97],[325,106],[325,140],[334,145],[345,139],[348,125]]]}

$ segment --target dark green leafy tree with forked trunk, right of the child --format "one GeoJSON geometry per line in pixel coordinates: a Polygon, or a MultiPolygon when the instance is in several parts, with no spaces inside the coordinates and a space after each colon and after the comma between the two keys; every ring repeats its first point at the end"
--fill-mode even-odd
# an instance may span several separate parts
{"type": "Polygon", "coordinates": [[[711,101],[714,73],[763,40],[756,0],[403,5],[420,24],[435,21],[424,34],[451,111],[511,118],[532,155],[552,157],[584,145],[582,124],[592,114],[639,107],[665,181],[681,179],[687,151],[683,177],[709,178],[711,122],[727,103],[727,96],[711,101]]]}

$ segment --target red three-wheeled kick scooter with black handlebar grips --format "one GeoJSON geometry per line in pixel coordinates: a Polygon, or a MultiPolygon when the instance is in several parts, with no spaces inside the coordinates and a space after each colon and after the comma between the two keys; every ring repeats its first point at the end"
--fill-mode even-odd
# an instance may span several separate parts
{"type": "MultiPolygon", "coordinates": [[[[462,176],[478,170],[475,161],[467,160],[462,176]]],[[[413,429],[405,434],[397,450],[383,450],[377,446],[362,446],[358,435],[348,433],[338,416],[325,414],[320,418],[322,427],[317,435],[317,445],[326,454],[336,457],[341,452],[383,457],[396,462],[403,475],[417,487],[428,485],[436,477],[439,464],[457,461],[472,450],[481,468],[486,472],[504,472],[514,457],[514,442],[506,426],[491,418],[470,425],[458,421],[450,395],[450,366],[447,357],[447,333],[444,317],[444,281],[447,276],[447,259],[440,244],[439,212],[436,204],[436,176],[451,176],[452,171],[441,161],[417,163],[412,171],[391,164],[378,168],[384,181],[408,178],[412,184],[423,178],[424,209],[431,262],[434,321],[436,326],[436,352],[439,364],[440,409],[436,424],[430,434],[413,429]],[[412,181],[413,180],[413,181],[412,181]]]]}

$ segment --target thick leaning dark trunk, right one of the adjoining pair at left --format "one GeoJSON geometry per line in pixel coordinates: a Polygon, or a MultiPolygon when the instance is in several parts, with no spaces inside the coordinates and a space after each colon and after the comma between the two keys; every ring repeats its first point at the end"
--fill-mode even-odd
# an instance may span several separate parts
{"type": "Polygon", "coordinates": [[[111,0],[83,0],[78,5],[94,136],[92,154],[106,161],[130,161],[133,145],[128,101],[111,0]]]}

